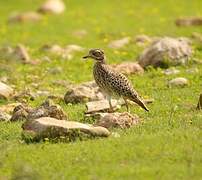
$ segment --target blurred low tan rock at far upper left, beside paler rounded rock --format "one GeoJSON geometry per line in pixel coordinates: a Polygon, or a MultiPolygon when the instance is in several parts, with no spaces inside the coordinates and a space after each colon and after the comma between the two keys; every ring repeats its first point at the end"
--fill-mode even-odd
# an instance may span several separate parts
{"type": "Polygon", "coordinates": [[[24,22],[38,22],[42,19],[42,16],[34,11],[15,13],[12,14],[8,22],[9,23],[24,23],[24,22]]]}

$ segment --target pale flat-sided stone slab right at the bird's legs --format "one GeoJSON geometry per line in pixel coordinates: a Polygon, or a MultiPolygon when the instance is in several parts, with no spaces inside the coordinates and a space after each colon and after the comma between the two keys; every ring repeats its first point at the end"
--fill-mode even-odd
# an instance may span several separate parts
{"type": "MultiPolygon", "coordinates": [[[[120,108],[120,105],[122,105],[123,102],[118,102],[117,100],[112,100],[112,107],[114,109],[120,108]]],[[[99,100],[99,101],[91,101],[86,103],[86,114],[91,114],[95,112],[106,112],[109,111],[109,102],[106,99],[99,100]]]]}

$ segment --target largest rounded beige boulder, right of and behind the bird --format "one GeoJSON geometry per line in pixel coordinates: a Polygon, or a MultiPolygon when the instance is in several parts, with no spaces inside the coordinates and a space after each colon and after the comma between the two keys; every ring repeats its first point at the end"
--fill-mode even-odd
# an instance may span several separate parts
{"type": "Polygon", "coordinates": [[[185,64],[192,55],[189,43],[185,38],[161,38],[143,51],[139,64],[142,67],[185,64]]]}

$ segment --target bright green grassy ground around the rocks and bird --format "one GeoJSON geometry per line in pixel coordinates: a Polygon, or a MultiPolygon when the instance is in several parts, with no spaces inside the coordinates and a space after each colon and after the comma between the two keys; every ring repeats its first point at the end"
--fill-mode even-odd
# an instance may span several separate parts
{"type": "MultiPolygon", "coordinates": [[[[179,28],[174,24],[179,16],[202,15],[200,0],[95,0],[93,3],[72,0],[67,2],[63,15],[45,16],[35,24],[6,23],[10,12],[34,10],[40,3],[40,0],[0,1],[1,45],[23,43],[39,59],[44,56],[39,48],[46,43],[100,47],[106,51],[109,63],[118,63],[135,59],[142,48],[131,43],[117,52],[107,48],[110,40],[142,33],[190,37],[192,32],[202,32],[201,27],[179,28]],[[88,31],[82,40],[72,36],[78,29],[88,31]]],[[[200,59],[201,48],[194,48],[194,57],[200,59]]],[[[38,66],[1,60],[0,77],[8,76],[17,91],[26,87],[34,91],[32,83],[38,83],[40,90],[63,95],[65,88],[54,85],[54,80],[72,83],[92,80],[92,62],[83,62],[82,55],[79,53],[70,61],[52,58],[51,62],[38,66]],[[63,72],[48,73],[52,67],[62,67],[63,72]]],[[[202,114],[193,108],[202,89],[202,66],[189,64],[178,69],[179,75],[165,76],[161,69],[151,69],[143,76],[130,76],[136,89],[155,102],[149,105],[149,113],[131,107],[132,113],[137,113],[144,122],[129,130],[119,130],[119,138],[27,145],[21,141],[21,122],[1,122],[0,179],[22,179],[22,176],[28,179],[201,179],[202,114]],[[199,73],[186,72],[195,67],[199,73]],[[168,88],[167,81],[178,76],[186,77],[189,86],[168,88]]],[[[43,98],[38,98],[30,105],[42,101],[43,98]]],[[[83,121],[83,104],[61,105],[70,119],[83,121]]],[[[125,107],[121,109],[124,110],[125,107]]]]}

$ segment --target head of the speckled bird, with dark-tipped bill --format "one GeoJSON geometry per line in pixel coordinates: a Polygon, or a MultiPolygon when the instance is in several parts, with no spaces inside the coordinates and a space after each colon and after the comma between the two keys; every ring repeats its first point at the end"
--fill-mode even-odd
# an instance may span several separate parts
{"type": "Polygon", "coordinates": [[[101,49],[91,49],[89,52],[88,52],[88,55],[87,56],[84,56],[83,57],[84,59],[87,59],[87,58],[92,58],[96,61],[99,61],[99,62],[104,62],[105,60],[105,55],[104,55],[104,51],[101,50],[101,49]]]}

